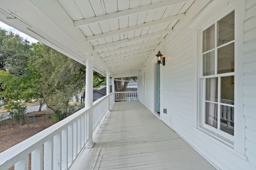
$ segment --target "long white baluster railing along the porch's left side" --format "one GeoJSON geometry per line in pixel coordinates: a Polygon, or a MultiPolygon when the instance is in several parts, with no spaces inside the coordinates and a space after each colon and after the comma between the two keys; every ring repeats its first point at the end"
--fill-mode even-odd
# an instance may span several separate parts
{"type": "MultiPolygon", "coordinates": [[[[114,102],[114,93],[94,102],[94,129],[114,102]]],[[[88,114],[83,108],[44,131],[0,153],[0,170],[68,170],[88,140],[88,114]]]]}

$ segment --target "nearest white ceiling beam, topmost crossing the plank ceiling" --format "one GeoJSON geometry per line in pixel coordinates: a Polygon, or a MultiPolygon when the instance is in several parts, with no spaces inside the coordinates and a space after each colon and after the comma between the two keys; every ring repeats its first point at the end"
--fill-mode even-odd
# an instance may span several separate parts
{"type": "Polygon", "coordinates": [[[106,20],[109,20],[112,18],[119,18],[122,16],[128,16],[130,14],[136,14],[139,12],[144,12],[144,11],[148,11],[148,10],[152,10],[152,9],[156,9],[156,8],[162,8],[164,6],[170,6],[170,5],[174,5],[174,4],[178,4],[178,3],[186,2],[186,1],[188,1],[188,0],[168,0],[168,1],[158,2],[158,3],[154,3],[154,4],[149,4],[146,6],[140,6],[138,8],[131,8],[128,10],[105,14],[102,16],[96,16],[96,17],[92,17],[92,18],[77,20],[77,21],[74,21],[74,26],[82,27],[82,26],[90,24],[90,23],[106,21],[106,20]]]}

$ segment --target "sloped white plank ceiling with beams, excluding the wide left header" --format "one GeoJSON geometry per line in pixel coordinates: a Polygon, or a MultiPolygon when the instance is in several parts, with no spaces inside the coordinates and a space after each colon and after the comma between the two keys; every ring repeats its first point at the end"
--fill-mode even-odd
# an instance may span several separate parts
{"type": "Polygon", "coordinates": [[[140,70],[194,0],[58,0],[112,75],[140,70]]]}

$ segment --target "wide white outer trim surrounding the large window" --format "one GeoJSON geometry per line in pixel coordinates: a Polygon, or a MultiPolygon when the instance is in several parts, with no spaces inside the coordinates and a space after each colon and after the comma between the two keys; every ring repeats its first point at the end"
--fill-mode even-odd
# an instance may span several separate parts
{"type": "MultiPolygon", "coordinates": [[[[197,80],[195,83],[196,86],[196,93],[197,96],[197,116],[194,117],[194,127],[196,127],[199,132],[202,132],[206,135],[206,138],[208,139],[214,139],[215,142],[220,142],[220,144],[224,144],[226,146],[229,146],[230,151],[234,151],[233,153],[239,156],[240,158],[243,158],[246,160],[245,152],[245,142],[246,142],[246,135],[245,135],[245,118],[244,118],[244,90],[243,90],[243,45],[244,42],[244,20],[245,20],[245,0],[234,0],[234,2],[231,2],[229,4],[224,4],[224,1],[222,0],[216,0],[213,1],[205,8],[205,10],[196,18],[194,22],[190,25],[190,28],[195,29],[196,34],[194,35],[194,39],[197,41],[195,43],[195,55],[198,57],[198,60],[196,62],[197,67],[197,80]],[[219,11],[212,10],[213,8],[218,7],[220,9],[219,11]],[[237,104],[235,108],[235,127],[234,127],[234,142],[228,141],[227,139],[224,139],[223,137],[220,137],[216,134],[214,134],[211,131],[206,130],[202,127],[201,119],[202,119],[202,81],[200,81],[200,71],[202,70],[202,64],[200,63],[200,55],[201,55],[201,44],[202,42],[200,39],[200,29],[206,25],[210,26],[209,21],[212,20],[218,20],[220,15],[225,16],[226,14],[232,12],[235,10],[235,87],[234,87],[234,101],[237,104]]],[[[211,22],[212,23],[212,22],[211,22]]]]}

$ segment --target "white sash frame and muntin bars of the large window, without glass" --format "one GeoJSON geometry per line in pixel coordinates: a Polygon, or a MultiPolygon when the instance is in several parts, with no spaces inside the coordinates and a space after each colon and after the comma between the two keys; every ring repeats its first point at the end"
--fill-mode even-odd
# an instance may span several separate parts
{"type": "MultiPolygon", "coordinates": [[[[231,143],[234,142],[234,136],[233,135],[230,135],[224,131],[221,131],[220,130],[220,124],[221,124],[221,121],[220,121],[220,105],[224,105],[224,106],[232,106],[234,107],[234,117],[236,117],[236,105],[230,105],[230,104],[223,104],[221,103],[220,101],[220,93],[221,93],[221,89],[220,89],[220,86],[221,86],[221,82],[220,82],[220,79],[222,77],[225,77],[225,76],[235,76],[235,71],[234,72],[228,72],[228,73],[221,73],[221,74],[218,74],[218,49],[220,49],[221,47],[225,47],[226,45],[230,45],[232,43],[236,44],[236,39],[237,37],[235,36],[235,39],[232,40],[232,41],[229,41],[228,43],[224,43],[222,45],[219,45],[218,46],[218,29],[217,29],[217,23],[218,21],[220,21],[222,18],[226,17],[228,14],[230,14],[231,12],[235,11],[234,9],[228,11],[228,12],[225,12],[224,14],[216,17],[214,20],[212,20],[210,23],[208,23],[207,25],[205,25],[204,27],[201,27],[200,30],[199,30],[199,39],[200,39],[200,45],[199,45],[199,55],[200,55],[200,70],[199,70],[199,82],[200,82],[200,86],[201,88],[200,89],[200,93],[201,93],[201,100],[200,100],[200,119],[199,119],[199,127],[203,127],[209,131],[211,131],[212,133],[214,133],[216,136],[221,136],[221,137],[224,137],[226,139],[228,139],[231,143]],[[203,31],[205,31],[206,29],[208,29],[209,27],[211,27],[212,25],[214,24],[214,48],[213,49],[210,49],[210,50],[207,50],[207,51],[204,51],[203,52],[203,31]],[[209,53],[210,51],[214,51],[214,75],[206,75],[206,76],[203,76],[203,55],[206,54],[206,53],[209,53]],[[212,127],[211,125],[208,125],[205,123],[205,118],[206,118],[206,102],[209,102],[208,100],[206,100],[206,78],[217,78],[218,80],[218,101],[217,102],[211,102],[210,103],[214,103],[214,104],[218,104],[218,120],[217,122],[218,123],[218,127],[217,129],[215,127],[212,127]]],[[[236,30],[236,15],[235,15],[235,30],[236,30]]],[[[234,33],[234,35],[236,34],[236,32],[234,33]]],[[[235,50],[234,50],[234,61],[236,61],[236,54],[235,54],[235,50]]],[[[236,70],[236,69],[235,69],[236,70]]],[[[234,91],[235,93],[235,91],[234,91]]],[[[235,98],[235,95],[234,95],[234,98],[235,98]]],[[[235,99],[234,99],[235,100],[235,99]]],[[[235,125],[236,126],[236,125],[235,125]]]]}

